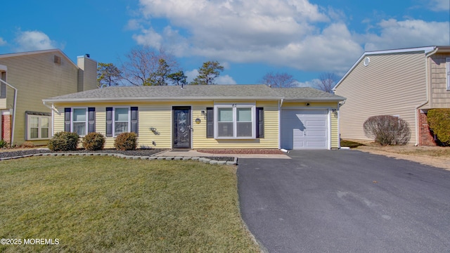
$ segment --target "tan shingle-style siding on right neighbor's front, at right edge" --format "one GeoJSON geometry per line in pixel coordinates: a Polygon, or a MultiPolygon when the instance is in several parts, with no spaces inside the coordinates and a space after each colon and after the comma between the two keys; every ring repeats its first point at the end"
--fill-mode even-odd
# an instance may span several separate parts
{"type": "Polygon", "coordinates": [[[423,108],[450,108],[450,91],[447,90],[446,58],[449,54],[436,54],[429,58],[430,103],[423,108]]]}

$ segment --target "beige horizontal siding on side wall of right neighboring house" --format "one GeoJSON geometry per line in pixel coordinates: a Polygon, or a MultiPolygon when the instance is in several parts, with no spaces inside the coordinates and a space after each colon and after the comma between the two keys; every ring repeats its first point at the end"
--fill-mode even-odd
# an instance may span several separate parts
{"type": "Polygon", "coordinates": [[[426,100],[425,54],[370,55],[354,67],[336,95],[347,98],[340,108],[340,133],[344,139],[364,139],[363,124],[375,115],[399,115],[409,122],[411,141],[416,142],[416,107],[426,100]]]}

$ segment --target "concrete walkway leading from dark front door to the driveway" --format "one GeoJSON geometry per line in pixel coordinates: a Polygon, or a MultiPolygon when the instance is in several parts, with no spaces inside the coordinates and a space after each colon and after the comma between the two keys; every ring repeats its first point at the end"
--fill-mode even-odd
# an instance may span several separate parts
{"type": "Polygon", "coordinates": [[[238,158],[269,158],[269,159],[290,159],[288,155],[276,154],[211,154],[200,153],[196,150],[167,150],[155,156],[164,157],[238,157],[238,158]]]}

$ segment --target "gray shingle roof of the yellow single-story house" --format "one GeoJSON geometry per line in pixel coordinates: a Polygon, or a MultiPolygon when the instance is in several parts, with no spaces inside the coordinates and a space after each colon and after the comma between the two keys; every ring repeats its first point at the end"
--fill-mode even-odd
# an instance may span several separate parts
{"type": "Polygon", "coordinates": [[[46,102],[75,102],[98,100],[278,100],[281,98],[343,100],[340,96],[311,88],[271,89],[255,85],[186,85],[181,86],[121,86],[82,91],[53,98],[46,102]]]}

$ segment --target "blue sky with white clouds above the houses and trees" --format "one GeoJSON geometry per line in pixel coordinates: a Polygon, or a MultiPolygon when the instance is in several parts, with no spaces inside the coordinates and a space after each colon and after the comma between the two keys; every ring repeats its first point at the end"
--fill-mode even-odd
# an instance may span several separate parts
{"type": "Polygon", "coordinates": [[[5,1],[0,53],[60,48],[120,65],[134,46],[165,48],[188,77],[207,60],[219,84],[288,72],[310,86],[364,51],[450,44],[449,0],[5,1]]]}

